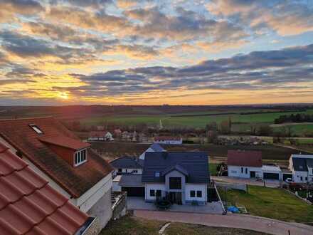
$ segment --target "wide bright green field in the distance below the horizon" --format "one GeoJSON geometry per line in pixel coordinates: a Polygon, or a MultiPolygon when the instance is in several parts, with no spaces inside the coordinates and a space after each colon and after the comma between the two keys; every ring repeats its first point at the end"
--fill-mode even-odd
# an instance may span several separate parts
{"type": "MultiPolygon", "coordinates": [[[[218,112],[212,112],[218,113],[218,112]]],[[[221,112],[223,113],[223,112],[221,112]]],[[[224,112],[225,113],[225,112],[224,112]]],[[[295,112],[303,113],[303,112],[295,112]]],[[[313,114],[313,110],[307,110],[309,114],[313,114]]],[[[185,117],[177,115],[112,115],[105,117],[88,117],[80,119],[80,122],[85,125],[100,125],[103,123],[115,123],[117,125],[138,125],[145,123],[147,125],[158,126],[160,120],[163,127],[195,127],[195,128],[204,128],[208,122],[218,122],[221,123],[223,120],[228,120],[230,117],[233,124],[232,130],[235,132],[248,132],[251,125],[270,125],[274,122],[275,118],[280,115],[290,114],[290,113],[259,113],[259,114],[232,114],[232,115],[207,115],[207,116],[197,116],[201,113],[183,113],[181,115],[189,115],[185,117]]],[[[202,113],[203,114],[203,113],[202,113]]],[[[206,114],[209,114],[206,112],[206,114]]],[[[305,126],[294,126],[295,133],[299,134],[302,130],[313,130],[312,125],[305,126]]],[[[279,128],[277,129],[279,130],[279,128]]]]}

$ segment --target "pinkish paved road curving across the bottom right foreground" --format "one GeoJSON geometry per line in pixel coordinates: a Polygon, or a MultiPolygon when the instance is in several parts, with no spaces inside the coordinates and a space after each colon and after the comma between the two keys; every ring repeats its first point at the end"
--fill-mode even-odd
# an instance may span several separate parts
{"type": "Polygon", "coordinates": [[[287,223],[275,219],[267,219],[258,216],[239,214],[197,214],[171,211],[147,211],[135,210],[134,216],[144,219],[154,219],[161,221],[182,222],[189,224],[202,224],[206,226],[218,226],[237,229],[250,229],[261,231],[267,234],[277,235],[312,235],[313,226],[304,224],[287,223]]]}

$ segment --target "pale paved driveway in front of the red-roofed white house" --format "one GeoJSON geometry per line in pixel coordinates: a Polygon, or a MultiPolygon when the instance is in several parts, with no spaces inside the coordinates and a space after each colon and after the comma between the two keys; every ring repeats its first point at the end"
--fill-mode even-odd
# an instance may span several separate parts
{"type": "MultiPolygon", "coordinates": [[[[216,182],[227,182],[232,184],[250,184],[250,185],[257,185],[257,186],[264,186],[264,182],[257,181],[256,179],[243,179],[243,178],[235,178],[235,177],[216,177],[213,176],[216,182]]],[[[265,179],[265,186],[270,188],[277,188],[280,187],[280,181],[274,179],[265,179]]]]}

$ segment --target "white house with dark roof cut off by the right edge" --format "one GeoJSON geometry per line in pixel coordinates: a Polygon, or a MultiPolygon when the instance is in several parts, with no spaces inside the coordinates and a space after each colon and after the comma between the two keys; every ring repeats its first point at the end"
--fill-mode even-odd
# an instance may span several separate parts
{"type": "Polygon", "coordinates": [[[291,155],[289,169],[294,182],[313,182],[313,155],[291,155]]]}

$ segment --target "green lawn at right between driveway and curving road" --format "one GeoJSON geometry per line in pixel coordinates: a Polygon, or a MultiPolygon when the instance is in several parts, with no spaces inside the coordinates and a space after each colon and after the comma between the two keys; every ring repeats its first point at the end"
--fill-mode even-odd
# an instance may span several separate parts
{"type": "MultiPolygon", "coordinates": [[[[226,200],[226,192],[223,189],[219,192],[222,199],[226,200]]],[[[227,201],[244,205],[250,214],[256,216],[299,223],[313,222],[313,206],[302,202],[284,189],[249,186],[248,193],[229,190],[227,201]]]]}

